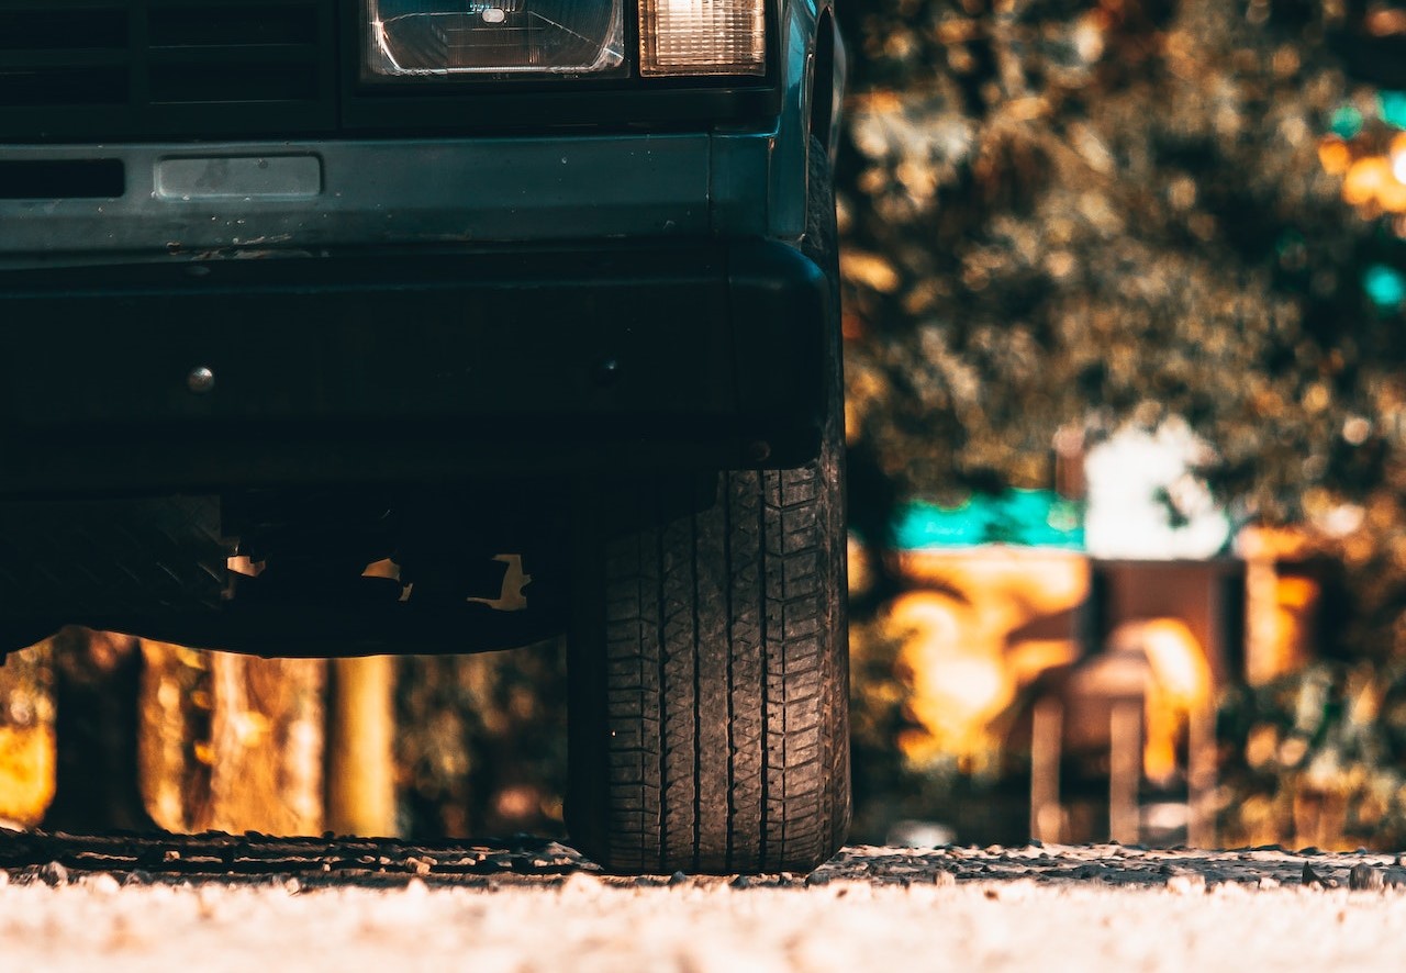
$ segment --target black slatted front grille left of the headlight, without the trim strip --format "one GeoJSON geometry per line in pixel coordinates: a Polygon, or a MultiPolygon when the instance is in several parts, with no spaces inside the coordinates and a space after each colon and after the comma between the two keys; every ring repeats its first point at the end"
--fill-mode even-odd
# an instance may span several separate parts
{"type": "Polygon", "coordinates": [[[0,0],[0,139],[316,134],[336,0],[0,0]]]}

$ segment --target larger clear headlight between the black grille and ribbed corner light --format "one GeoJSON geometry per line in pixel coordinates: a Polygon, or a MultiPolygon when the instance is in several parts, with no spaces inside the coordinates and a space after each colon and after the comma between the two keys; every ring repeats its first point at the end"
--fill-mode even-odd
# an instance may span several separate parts
{"type": "Polygon", "coordinates": [[[623,0],[367,0],[377,75],[592,73],[623,62],[623,0]]]}

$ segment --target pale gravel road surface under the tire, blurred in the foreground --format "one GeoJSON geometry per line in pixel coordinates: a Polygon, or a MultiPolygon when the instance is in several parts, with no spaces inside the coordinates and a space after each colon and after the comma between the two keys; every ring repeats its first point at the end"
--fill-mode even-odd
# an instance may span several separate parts
{"type": "Polygon", "coordinates": [[[0,831],[4,970],[1406,969],[1391,855],[849,848],[817,872],[603,876],[538,839],[0,831]]]}

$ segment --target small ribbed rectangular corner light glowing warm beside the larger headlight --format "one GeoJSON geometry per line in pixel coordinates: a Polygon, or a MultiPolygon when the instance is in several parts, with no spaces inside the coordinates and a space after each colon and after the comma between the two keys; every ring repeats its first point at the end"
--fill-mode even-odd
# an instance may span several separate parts
{"type": "Polygon", "coordinates": [[[765,75],[766,0],[640,0],[643,75],[765,75]]]}

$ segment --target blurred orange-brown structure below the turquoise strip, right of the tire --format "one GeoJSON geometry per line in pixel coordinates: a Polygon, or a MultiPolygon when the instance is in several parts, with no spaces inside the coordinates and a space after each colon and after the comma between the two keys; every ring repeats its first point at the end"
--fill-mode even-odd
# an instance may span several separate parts
{"type": "Polygon", "coordinates": [[[924,727],[910,758],[980,769],[1028,748],[1029,828],[1046,841],[1215,842],[1215,696],[1244,665],[1239,560],[980,546],[896,567],[912,591],[890,620],[924,727]],[[1078,807],[1076,768],[1105,780],[1102,811],[1078,807]]]}

